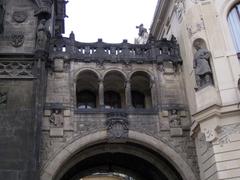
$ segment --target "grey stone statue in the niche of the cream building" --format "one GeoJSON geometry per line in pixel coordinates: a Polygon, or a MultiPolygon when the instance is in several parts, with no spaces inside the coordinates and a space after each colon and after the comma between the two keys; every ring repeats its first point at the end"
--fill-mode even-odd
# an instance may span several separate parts
{"type": "Polygon", "coordinates": [[[193,68],[195,69],[197,88],[212,84],[212,70],[209,64],[210,52],[201,47],[200,41],[194,42],[196,53],[194,54],[193,68]]]}

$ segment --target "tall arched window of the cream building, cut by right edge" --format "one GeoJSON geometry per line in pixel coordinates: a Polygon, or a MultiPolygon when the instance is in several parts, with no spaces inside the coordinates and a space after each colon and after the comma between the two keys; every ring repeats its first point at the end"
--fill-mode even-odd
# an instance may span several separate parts
{"type": "Polygon", "coordinates": [[[238,57],[240,57],[240,3],[235,5],[228,14],[228,24],[238,57]]]}

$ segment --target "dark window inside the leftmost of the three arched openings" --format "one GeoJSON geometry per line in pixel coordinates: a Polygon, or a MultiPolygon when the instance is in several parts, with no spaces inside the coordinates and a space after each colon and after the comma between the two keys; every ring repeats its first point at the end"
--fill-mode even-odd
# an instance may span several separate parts
{"type": "Polygon", "coordinates": [[[84,90],[77,94],[77,107],[79,109],[92,109],[96,107],[96,96],[93,92],[84,90]]]}

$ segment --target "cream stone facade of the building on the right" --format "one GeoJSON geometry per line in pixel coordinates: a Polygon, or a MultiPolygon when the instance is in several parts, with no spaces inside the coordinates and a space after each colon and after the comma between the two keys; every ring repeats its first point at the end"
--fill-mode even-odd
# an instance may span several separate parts
{"type": "Polygon", "coordinates": [[[239,179],[240,66],[227,17],[238,0],[162,1],[151,32],[157,39],[177,38],[192,119],[201,179],[239,179]],[[165,7],[165,8],[162,8],[165,7]],[[158,19],[162,19],[161,22],[158,19]],[[211,53],[213,83],[197,87],[194,43],[211,53]]]}

